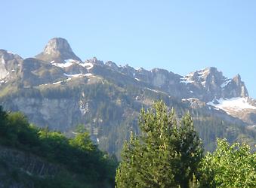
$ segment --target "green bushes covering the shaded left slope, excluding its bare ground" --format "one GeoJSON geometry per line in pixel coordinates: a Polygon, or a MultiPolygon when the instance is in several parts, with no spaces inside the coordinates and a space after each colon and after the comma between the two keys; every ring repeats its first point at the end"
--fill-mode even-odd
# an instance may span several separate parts
{"type": "MultiPolygon", "coordinates": [[[[66,138],[60,132],[36,128],[29,124],[23,114],[6,113],[0,107],[0,135],[0,144],[33,153],[48,162],[63,166],[70,173],[76,174],[75,177],[81,177],[83,186],[73,186],[75,183],[72,183],[70,186],[61,187],[85,187],[85,184],[113,186],[114,184],[116,159],[101,152],[90,140],[88,132],[78,133],[75,138],[66,138]]],[[[70,173],[67,175],[69,178],[62,180],[61,183],[65,184],[67,180],[76,181],[70,173]]],[[[36,182],[46,185],[47,180],[55,181],[51,183],[51,187],[60,187],[56,184],[56,181],[61,180],[58,179],[59,177],[56,174],[54,177],[45,177],[45,180],[39,178],[36,182]],[[53,186],[54,184],[56,186],[53,186]]]]}

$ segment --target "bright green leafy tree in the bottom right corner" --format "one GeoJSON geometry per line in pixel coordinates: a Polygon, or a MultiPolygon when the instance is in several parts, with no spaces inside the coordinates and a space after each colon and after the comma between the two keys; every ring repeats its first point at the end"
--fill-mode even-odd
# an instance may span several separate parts
{"type": "Polygon", "coordinates": [[[217,149],[207,153],[200,168],[202,187],[256,187],[256,153],[247,144],[230,146],[217,139],[217,149]]]}

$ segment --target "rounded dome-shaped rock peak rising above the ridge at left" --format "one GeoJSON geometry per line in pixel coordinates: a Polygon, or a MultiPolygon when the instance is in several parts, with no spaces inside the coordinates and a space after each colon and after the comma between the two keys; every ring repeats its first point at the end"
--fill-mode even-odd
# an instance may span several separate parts
{"type": "Polygon", "coordinates": [[[44,60],[46,62],[64,62],[66,59],[74,59],[81,61],[75,53],[73,53],[68,41],[65,38],[52,38],[48,41],[45,50],[36,59],[44,60]]]}

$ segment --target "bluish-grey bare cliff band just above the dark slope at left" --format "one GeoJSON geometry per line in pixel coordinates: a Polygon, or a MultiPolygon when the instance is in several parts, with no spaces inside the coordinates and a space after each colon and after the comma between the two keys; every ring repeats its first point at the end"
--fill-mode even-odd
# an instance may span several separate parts
{"type": "Polygon", "coordinates": [[[79,100],[18,97],[2,105],[23,111],[32,123],[65,132],[79,123],[79,100]],[[8,103],[8,104],[7,104],[8,103]]]}

